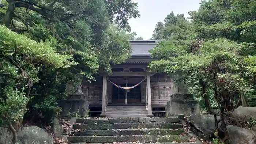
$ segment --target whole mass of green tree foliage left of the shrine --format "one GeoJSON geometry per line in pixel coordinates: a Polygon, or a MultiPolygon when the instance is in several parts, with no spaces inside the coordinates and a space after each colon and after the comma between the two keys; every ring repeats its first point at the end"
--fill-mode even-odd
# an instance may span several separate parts
{"type": "Polygon", "coordinates": [[[48,125],[60,113],[57,102],[67,96],[69,80],[91,82],[97,72],[111,73],[110,62],[118,64],[130,57],[128,19],[140,16],[138,4],[131,0],[11,0],[2,4],[0,20],[6,27],[0,27],[0,94],[5,95],[1,109],[15,107],[7,100],[19,97],[17,102],[26,105],[17,109],[24,110],[23,115],[27,110],[27,124],[48,125]],[[16,95],[10,97],[12,89],[16,95]]]}

